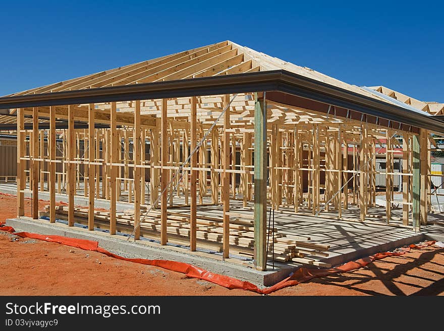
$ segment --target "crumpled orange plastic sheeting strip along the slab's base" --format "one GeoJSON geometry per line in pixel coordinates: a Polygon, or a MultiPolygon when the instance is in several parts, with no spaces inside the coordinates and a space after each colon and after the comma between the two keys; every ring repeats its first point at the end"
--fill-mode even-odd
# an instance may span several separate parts
{"type": "MultiPolygon", "coordinates": [[[[3,227],[3,228],[11,228],[11,227],[3,227]]],[[[3,230],[3,228],[0,227],[0,230],[3,230]]],[[[14,232],[14,229],[12,229],[12,231],[10,231],[10,230],[6,230],[6,231],[14,232]]],[[[260,294],[270,294],[274,291],[283,289],[285,287],[298,285],[299,283],[303,283],[303,282],[309,281],[310,279],[317,278],[317,277],[323,277],[323,276],[328,276],[328,275],[332,275],[332,274],[349,272],[349,271],[352,271],[355,269],[365,267],[365,266],[367,266],[367,264],[369,264],[375,260],[379,260],[379,259],[382,259],[382,258],[385,258],[388,256],[400,256],[402,254],[405,254],[406,251],[410,251],[410,249],[412,249],[412,248],[419,249],[419,248],[433,245],[435,243],[435,241],[427,241],[423,245],[412,244],[408,247],[403,247],[402,248],[403,251],[399,251],[399,252],[376,253],[374,255],[364,257],[364,258],[358,259],[356,261],[350,261],[348,263],[343,264],[343,266],[340,266],[338,268],[331,268],[331,269],[300,268],[293,275],[282,280],[281,282],[279,282],[271,287],[260,289],[256,285],[254,285],[250,282],[241,281],[239,279],[232,278],[229,276],[214,274],[214,273],[211,273],[211,272],[206,271],[204,269],[200,269],[195,266],[192,266],[191,264],[188,264],[185,262],[159,260],[159,259],[150,260],[150,259],[146,259],[146,258],[123,257],[123,256],[114,254],[112,252],[107,251],[106,249],[99,247],[97,241],[86,240],[86,239],[75,239],[75,238],[68,238],[68,237],[55,236],[55,235],[41,235],[41,234],[29,233],[29,232],[19,232],[19,233],[15,233],[15,234],[20,237],[23,237],[23,238],[39,239],[39,240],[44,240],[44,241],[48,241],[48,242],[57,242],[60,244],[73,246],[73,247],[77,247],[80,249],[93,250],[93,251],[97,251],[97,252],[106,254],[108,256],[119,258],[119,259],[122,259],[125,261],[147,264],[149,266],[156,266],[156,267],[160,267],[163,269],[182,273],[182,274],[185,274],[187,277],[205,280],[205,281],[208,281],[208,282],[220,285],[220,286],[224,286],[228,289],[248,290],[248,291],[253,291],[256,293],[260,293],[260,294]]]]}

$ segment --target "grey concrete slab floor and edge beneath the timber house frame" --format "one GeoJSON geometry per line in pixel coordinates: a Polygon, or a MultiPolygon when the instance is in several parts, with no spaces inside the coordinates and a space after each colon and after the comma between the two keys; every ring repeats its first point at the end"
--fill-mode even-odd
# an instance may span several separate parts
{"type": "MultiPolygon", "coordinates": [[[[10,194],[16,194],[15,183],[0,184],[0,191],[10,194]]],[[[29,197],[30,192],[25,196],[29,197]]],[[[39,198],[49,199],[47,191],[39,191],[39,198]]],[[[56,194],[56,201],[68,201],[66,194],[56,194]]],[[[76,205],[87,205],[88,198],[81,195],[75,196],[76,205]]],[[[242,202],[238,200],[230,201],[231,208],[243,213],[252,213],[252,205],[243,208],[242,202]]],[[[95,207],[109,208],[109,201],[96,199],[95,207]]],[[[117,203],[118,210],[127,210],[133,208],[132,204],[125,202],[125,196],[117,203]],[[123,200],[123,201],[122,201],[123,200]]],[[[189,213],[189,208],[174,207],[172,210],[182,213],[189,213]]],[[[373,214],[384,213],[380,207],[371,208],[373,214]]],[[[399,216],[402,210],[395,209],[393,214],[399,216]]],[[[198,206],[197,214],[201,216],[221,217],[221,206],[198,206]]],[[[353,215],[353,208],[349,209],[350,215],[353,215]]],[[[441,214],[429,214],[430,225],[421,226],[421,232],[413,232],[411,228],[399,227],[399,221],[393,221],[394,224],[386,225],[381,218],[369,218],[366,222],[351,222],[339,219],[324,217],[312,217],[302,214],[294,214],[291,208],[281,208],[275,213],[274,226],[280,232],[287,235],[302,235],[310,237],[313,242],[328,244],[328,257],[319,258],[322,262],[330,263],[332,266],[339,266],[350,260],[365,257],[381,251],[390,251],[397,247],[416,243],[423,240],[444,241],[444,216],[441,214]]],[[[221,255],[213,252],[205,252],[201,249],[198,252],[191,253],[188,247],[170,244],[161,246],[155,240],[142,238],[136,242],[126,240],[124,234],[110,236],[103,230],[88,231],[84,225],[76,224],[75,227],[68,227],[61,222],[49,223],[48,220],[32,220],[30,218],[9,219],[7,225],[14,227],[18,231],[27,231],[40,234],[56,234],[66,237],[82,238],[95,240],[99,245],[109,251],[126,257],[141,257],[150,259],[169,259],[183,261],[193,264],[199,268],[208,271],[227,275],[241,280],[252,282],[258,286],[271,286],[291,273],[301,268],[301,264],[296,262],[280,263],[275,262],[275,268],[272,268],[271,261],[268,262],[268,268],[265,272],[256,271],[253,268],[251,259],[240,260],[229,258],[226,261],[221,260],[221,255]]],[[[199,247],[198,247],[199,249],[199,247]]],[[[316,268],[316,267],[312,267],[316,268]]]]}

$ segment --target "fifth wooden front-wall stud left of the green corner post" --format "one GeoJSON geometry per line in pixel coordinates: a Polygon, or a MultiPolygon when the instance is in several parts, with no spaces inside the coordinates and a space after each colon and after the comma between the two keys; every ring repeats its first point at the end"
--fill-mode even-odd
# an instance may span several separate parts
{"type": "MultiPolygon", "coordinates": [[[[117,141],[117,110],[116,102],[111,103],[111,116],[110,116],[110,135],[111,146],[109,148],[109,158],[111,163],[116,164],[118,160],[118,153],[120,153],[120,142],[117,141]]],[[[110,167],[110,202],[109,202],[109,234],[116,234],[116,202],[117,202],[117,166],[111,165],[110,167]]]]}

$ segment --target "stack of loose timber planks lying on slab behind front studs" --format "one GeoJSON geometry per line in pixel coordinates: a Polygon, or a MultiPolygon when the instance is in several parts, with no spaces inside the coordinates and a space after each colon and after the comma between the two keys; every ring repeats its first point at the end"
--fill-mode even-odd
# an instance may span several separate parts
{"type": "MultiPolygon", "coordinates": [[[[40,216],[49,217],[49,206],[40,216]]],[[[230,218],[230,248],[232,253],[253,257],[254,224],[251,215],[231,213],[230,218]],[[245,217],[244,217],[245,216],[245,217]]],[[[68,207],[55,207],[55,217],[61,220],[68,219],[68,207]]],[[[88,223],[88,208],[75,208],[74,221],[80,224],[88,223]]],[[[156,239],[160,233],[160,211],[151,210],[146,213],[141,210],[141,235],[156,239]]],[[[188,244],[190,236],[190,217],[185,213],[168,212],[167,233],[171,239],[180,244],[188,244]]],[[[109,212],[95,211],[94,225],[98,228],[109,228],[109,212]]],[[[134,211],[126,210],[117,214],[117,230],[131,233],[134,228],[134,211]]],[[[197,239],[201,242],[214,242],[217,245],[209,245],[207,248],[221,251],[223,241],[223,221],[220,218],[209,216],[197,216],[197,239]]],[[[309,242],[309,237],[293,236],[281,233],[274,229],[268,234],[268,258],[280,262],[297,262],[312,264],[319,267],[330,267],[328,263],[319,261],[319,257],[328,256],[326,251],[329,245],[309,242]],[[274,255],[272,252],[274,251],[274,255]]],[[[201,245],[199,245],[201,246],[201,245]]]]}

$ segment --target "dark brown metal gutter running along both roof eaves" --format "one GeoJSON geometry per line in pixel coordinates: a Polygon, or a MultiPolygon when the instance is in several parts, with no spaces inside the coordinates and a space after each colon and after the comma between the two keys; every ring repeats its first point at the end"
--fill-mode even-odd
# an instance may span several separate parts
{"type": "Polygon", "coordinates": [[[444,134],[444,122],[286,70],[0,98],[0,108],[279,91],[444,134]]]}

